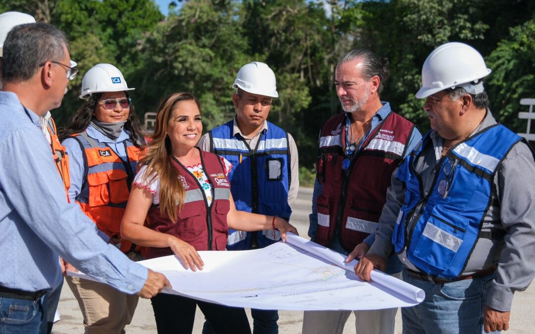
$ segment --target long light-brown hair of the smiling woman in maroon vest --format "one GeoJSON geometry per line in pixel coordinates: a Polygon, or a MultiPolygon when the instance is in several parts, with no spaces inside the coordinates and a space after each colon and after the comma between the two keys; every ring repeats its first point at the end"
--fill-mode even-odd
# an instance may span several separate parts
{"type": "Polygon", "coordinates": [[[199,110],[201,103],[193,94],[187,92],[174,93],[162,100],[158,106],[154,135],[148,143],[146,155],[140,160],[140,166],[147,166],[144,182],[150,183],[160,178],[160,213],[172,221],[177,221],[178,211],[182,208],[186,190],[179,180],[178,170],[171,162],[171,140],[167,136],[167,124],[173,114],[173,108],[182,101],[194,101],[199,110]]]}

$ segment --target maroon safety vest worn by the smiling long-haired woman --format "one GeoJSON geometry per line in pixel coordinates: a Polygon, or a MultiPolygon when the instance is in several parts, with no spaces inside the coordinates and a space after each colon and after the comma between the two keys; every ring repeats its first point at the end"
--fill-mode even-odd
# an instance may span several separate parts
{"type": "MultiPolygon", "coordinates": [[[[147,214],[150,229],[173,235],[195,247],[197,251],[225,250],[227,245],[227,213],[230,209],[231,185],[225,175],[220,158],[210,152],[201,152],[204,173],[213,187],[213,201],[209,207],[204,190],[197,178],[178,160],[173,165],[178,169],[180,182],[184,185],[186,196],[178,220],[171,221],[160,213],[159,205],[153,205],[147,214]]],[[[143,252],[146,259],[172,255],[171,248],[148,247],[143,252]]]]}

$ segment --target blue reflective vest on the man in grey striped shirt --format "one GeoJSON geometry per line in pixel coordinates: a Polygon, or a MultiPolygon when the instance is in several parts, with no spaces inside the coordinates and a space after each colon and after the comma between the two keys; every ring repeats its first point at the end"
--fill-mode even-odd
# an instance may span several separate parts
{"type": "Polygon", "coordinates": [[[431,144],[427,133],[419,149],[398,169],[405,198],[392,235],[394,250],[406,251],[407,259],[427,275],[460,276],[478,238],[494,238],[481,231],[491,205],[494,175],[521,140],[495,125],[456,144],[438,162],[431,190],[424,195],[415,164],[423,147],[431,144]],[[422,206],[418,214],[417,206],[422,206]]]}

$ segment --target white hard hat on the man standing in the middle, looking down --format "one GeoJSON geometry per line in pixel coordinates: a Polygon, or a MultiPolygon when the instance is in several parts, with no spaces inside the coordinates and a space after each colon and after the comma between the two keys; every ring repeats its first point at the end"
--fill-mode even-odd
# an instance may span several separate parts
{"type": "Polygon", "coordinates": [[[232,88],[240,88],[251,94],[279,97],[275,74],[267,64],[259,61],[243,65],[232,88]]]}

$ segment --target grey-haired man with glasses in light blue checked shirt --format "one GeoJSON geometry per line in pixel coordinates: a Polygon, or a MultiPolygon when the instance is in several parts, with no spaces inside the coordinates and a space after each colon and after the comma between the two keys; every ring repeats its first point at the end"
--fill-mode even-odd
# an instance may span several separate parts
{"type": "Polygon", "coordinates": [[[96,234],[65,189],[40,129],[57,108],[72,68],[66,36],[49,24],[20,25],[4,42],[0,92],[0,333],[46,330],[43,296],[59,285],[58,254],[126,293],[151,298],[170,286],[96,234]],[[44,325],[44,327],[43,327],[44,325]]]}

